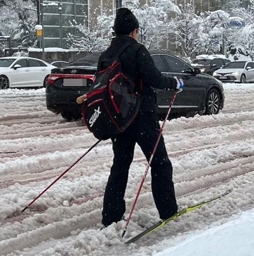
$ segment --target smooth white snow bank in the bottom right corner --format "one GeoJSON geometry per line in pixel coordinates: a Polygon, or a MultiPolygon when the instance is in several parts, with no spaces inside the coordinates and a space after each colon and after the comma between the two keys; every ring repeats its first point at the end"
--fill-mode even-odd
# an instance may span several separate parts
{"type": "Polygon", "coordinates": [[[251,256],[254,252],[253,238],[254,208],[232,217],[221,226],[193,232],[177,246],[155,256],[251,256]]]}

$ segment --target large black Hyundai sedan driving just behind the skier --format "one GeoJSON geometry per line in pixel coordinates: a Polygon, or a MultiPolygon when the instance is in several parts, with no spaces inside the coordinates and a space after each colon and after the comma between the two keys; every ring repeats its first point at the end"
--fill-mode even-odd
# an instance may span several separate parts
{"type": "MultiPolygon", "coordinates": [[[[81,118],[81,107],[76,98],[87,93],[96,72],[100,54],[81,57],[68,65],[52,69],[46,88],[48,110],[61,113],[65,120],[81,118]]],[[[217,114],[223,107],[224,92],[222,82],[210,75],[200,73],[180,58],[168,53],[151,52],[156,67],[165,76],[173,75],[183,79],[184,90],[177,95],[172,114],[199,112],[217,114]]],[[[165,116],[174,90],[154,89],[157,94],[157,113],[165,116]]]]}

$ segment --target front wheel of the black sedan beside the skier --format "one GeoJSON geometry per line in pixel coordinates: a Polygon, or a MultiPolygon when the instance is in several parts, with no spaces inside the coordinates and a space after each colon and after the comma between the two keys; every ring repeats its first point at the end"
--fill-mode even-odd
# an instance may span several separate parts
{"type": "Polygon", "coordinates": [[[218,114],[222,99],[220,93],[216,89],[211,89],[206,96],[206,115],[218,114]]]}

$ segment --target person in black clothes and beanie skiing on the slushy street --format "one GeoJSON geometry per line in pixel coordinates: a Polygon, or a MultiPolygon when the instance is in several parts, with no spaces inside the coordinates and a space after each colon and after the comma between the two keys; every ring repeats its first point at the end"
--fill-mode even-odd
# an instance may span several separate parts
{"type": "MultiPolygon", "coordinates": [[[[159,136],[159,120],[155,113],[156,95],[152,87],[175,89],[177,93],[183,90],[183,82],[174,77],[163,76],[155,67],[145,46],[137,42],[139,22],[128,8],[118,9],[113,28],[116,37],[99,57],[97,72],[105,68],[102,66],[103,60],[113,58],[119,48],[130,44],[119,56],[119,61],[137,89],[140,89],[142,80],[143,99],[135,120],[124,132],[111,138],[114,159],[103,199],[104,226],[120,221],[126,211],[124,195],[135,144],[141,147],[146,159],[149,160],[159,136]]],[[[77,102],[82,103],[85,99],[86,95],[80,96],[77,102]]],[[[161,136],[151,162],[152,195],[161,219],[169,218],[177,212],[172,173],[172,164],[161,136]]]]}

